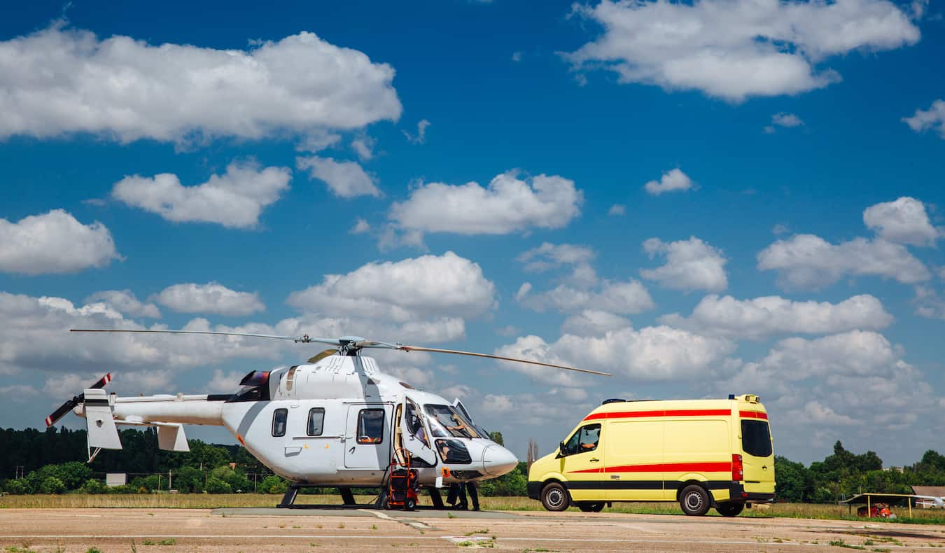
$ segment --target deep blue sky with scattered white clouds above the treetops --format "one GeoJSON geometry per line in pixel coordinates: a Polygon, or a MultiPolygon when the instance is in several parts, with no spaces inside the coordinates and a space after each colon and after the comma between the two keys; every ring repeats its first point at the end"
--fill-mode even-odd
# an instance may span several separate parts
{"type": "Polygon", "coordinates": [[[606,397],[730,392],[789,458],[945,450],[942,16],[32,3],[0,22],[0,425],[313,353],[64,333],[164,325],[614,373],[382,357],[523,458],[606,397]]]}

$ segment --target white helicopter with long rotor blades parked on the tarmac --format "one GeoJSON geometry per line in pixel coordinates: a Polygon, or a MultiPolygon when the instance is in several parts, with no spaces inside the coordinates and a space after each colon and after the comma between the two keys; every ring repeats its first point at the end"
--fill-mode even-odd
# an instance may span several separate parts
{"type": "Polygon", "coordinates": [[[108,373],[63,403],[45,423],[69,411],[86,420],[92,462],[102,449],[121,449],[117,425],[157,428],[158,446],[189,451],[184,424],[223,426],[273,473],[289,480],[279,507],[291,508],[305,487],[337,488],[354,505],[352,488],[380,488],[375,507],[386,504],[386,485],[394,467],[416,471],[434,507],[442,508],[438,488],[506,475],[518,458],[476,424],[459,399],[448,402],[382,372],[364,350],[460,354],[560,370],[610,376],[492,354],[477,354],[363,337],[322,338],[233,332],[70,329],[81,333],[190,334],[256,337],[326,344],[331,349],[308,362],[270,371],[249,372],[232,394],[159,394],[118,397],[105,386],[108,373]]]}

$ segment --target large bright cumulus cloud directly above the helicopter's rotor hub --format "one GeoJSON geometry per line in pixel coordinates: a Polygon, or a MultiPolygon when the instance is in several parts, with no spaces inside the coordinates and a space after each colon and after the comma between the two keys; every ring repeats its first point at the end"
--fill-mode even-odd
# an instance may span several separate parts
{"type": "Polygon", "coordinates": [[[392,322],[414,335],[428,329],[428,337],[444,341],[463,336],[463,318],[483,316],[495,306],[495,285],[477,264],[447,251],[325,275],[321,284],[292,292],[287,302],[309,312],[387,321],[388,328],[392,322]]]}

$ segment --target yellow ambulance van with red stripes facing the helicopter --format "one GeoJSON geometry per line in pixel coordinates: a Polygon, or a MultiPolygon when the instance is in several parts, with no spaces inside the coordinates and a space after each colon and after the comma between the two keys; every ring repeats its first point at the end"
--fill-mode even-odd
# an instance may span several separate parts
{"type": "Polygon", "coordinates": [[[614,501],[678,501],[686,514],[737,516],[774,502],[774,451],[756,395],[607,400],[532,463],[528,496],[547,510],[614,501]]]}

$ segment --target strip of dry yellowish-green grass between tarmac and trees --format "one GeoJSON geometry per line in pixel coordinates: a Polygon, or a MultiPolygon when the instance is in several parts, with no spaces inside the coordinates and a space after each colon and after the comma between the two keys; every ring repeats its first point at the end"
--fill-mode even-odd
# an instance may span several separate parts
{"type": "MultiPolygon", "coordinates": [[[[0,509],[69,509],[69,508],[139,508],[139,509],[215,509],[238,507],[274,507],[282,499],[281,495],[263,495],[255,493],[206,494],[206,493],[141,493],[129,495],[85,495],[67,493],[64,495],[4,495],[0,497],[0,509]]],[[[367,504],[373,497],[356,496],[358,503],[367,504]]],[[[337,495],[302,495],[297,504],[339,505],[337,495]]],[[[421,505],[429,505],[429,498],[421,498],[421,505]]],[[[541,503],[527,497],[482,497],[480,507],[485,510],[543,510],[541,503]]],[[[575,508],[571,510],[578,511],[575,508]]],[[[615,503],[605,512],[627,512],[636,514],[682,514],[676,503],[615,503]]],[[[945,511],[931,509],[913,509],[909,518],[905,508],[893,508],[898,517],[895,522],[907,524],[943,524],[945,511]]],[[[710,514],[715,514],[710,510],[710,514]]],[[[806,503],[777,503],[770,507],[744,510],[741,516],[749,517],[791,517],[817,519],[858,520],[853,511],[851,516],[846,506],[815,505],[806,503]]],[[[862,520],[862,519],[859,519],[862,520]]],[[[885,519],[873,519],[883,522],[885,519]]]]}

